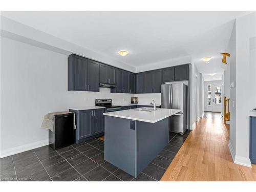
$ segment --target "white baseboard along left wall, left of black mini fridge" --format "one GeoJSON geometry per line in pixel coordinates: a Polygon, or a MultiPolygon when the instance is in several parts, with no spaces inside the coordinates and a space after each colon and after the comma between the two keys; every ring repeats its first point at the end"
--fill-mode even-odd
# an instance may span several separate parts
{"type": "Polygon", "coordinates": [[[13,147],[13,148],[9,148],[8,150],[3,150],[0,153],[0,158],[2,157],[7,157],[10,155],[14,155],[14,154],[18,154],[18,153],[22,153],[22,152],[26,152],[29,150],[33,150],[34,148],[40,147],[40,146],[45,146],[48,145],[48,139],[45,140],[41,140],[41,141],[36,141],[33,143],[28,143],[25,145],[20,145],[17,147],[13,147]]]}

